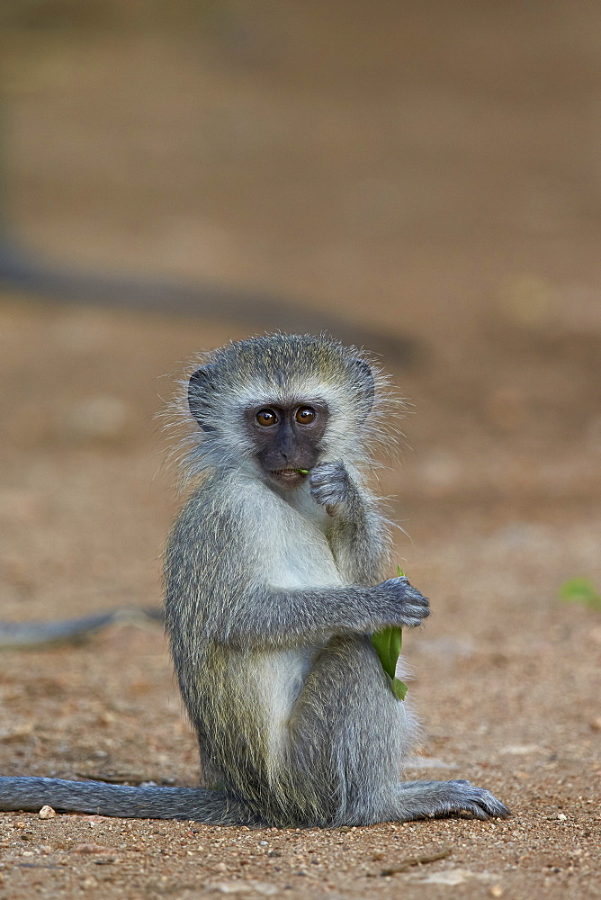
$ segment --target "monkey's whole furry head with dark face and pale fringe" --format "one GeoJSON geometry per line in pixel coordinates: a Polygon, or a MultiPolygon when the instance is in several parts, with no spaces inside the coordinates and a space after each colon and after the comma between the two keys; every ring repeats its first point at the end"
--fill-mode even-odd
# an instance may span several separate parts
{"type": "Polygon", "coordinates": [[[299,469],[366,458],[376,399],[372,366],[335,340],[275,334],[230,343],[188,383],[202,429],[197,467],[258,466],[293,488],[299,469]]]}

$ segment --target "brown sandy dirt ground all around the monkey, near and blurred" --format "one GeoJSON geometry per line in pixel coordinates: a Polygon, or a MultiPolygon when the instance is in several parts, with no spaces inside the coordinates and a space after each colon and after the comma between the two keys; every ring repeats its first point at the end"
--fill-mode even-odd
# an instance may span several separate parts
{"type": "MultiPolygon", "coordinates": [[[[405,635],[408,777],[471,779],[513,815],[0,814],[0,898],[601,897],[601,617],[558,599],[573,577],[601,590],[599,8],[232,2],[184,30],[160,3],[159,23],[144,4],[23,5],[0,49],[30,247],[415,340],[384,360],[414,405],[380,475],[434,610],[405,635]]],[[[180,500],[154,417],[183,360],[244,333],[2,294],[3,619],[160,603],[180,500]]],[[[3,653],[0,771],[196,783],[161,627],[3,653]]]]}

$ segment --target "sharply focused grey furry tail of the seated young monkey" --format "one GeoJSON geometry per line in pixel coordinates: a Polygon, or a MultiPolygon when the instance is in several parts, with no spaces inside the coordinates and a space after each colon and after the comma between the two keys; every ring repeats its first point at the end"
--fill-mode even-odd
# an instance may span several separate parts
{"type": "Polygon", "coordinates": [[[245,803],[208,788],[130,788],[101,781],[0,777],[0,810],[115,815],[132,819],[184,819],[209,825],[261,824],[245,803]]]}

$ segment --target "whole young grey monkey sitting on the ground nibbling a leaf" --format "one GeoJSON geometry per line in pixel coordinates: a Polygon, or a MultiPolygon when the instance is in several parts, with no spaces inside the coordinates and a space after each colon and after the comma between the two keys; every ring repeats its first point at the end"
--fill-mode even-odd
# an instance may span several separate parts
{"type": "Polygon", "coordinates": [[[1,809],[326,827],[507,807],[469,781],[401,781],[416,724],[371,635],[428,602],[382,581],[385,519],[363,469],[380,376],[298,335],[216,351],[188,383],[196,487],[166,548],[166,627],[202,788],[0,779],[1,809]]]}

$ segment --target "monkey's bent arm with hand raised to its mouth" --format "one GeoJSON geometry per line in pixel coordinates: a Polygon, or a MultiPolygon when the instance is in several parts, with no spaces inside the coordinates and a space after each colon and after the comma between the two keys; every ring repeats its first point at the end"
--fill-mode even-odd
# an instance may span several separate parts
{"type": "Polygon", "coordinates": [[[322,463],[311,470],[310,491],[332,518],[327,536],[338,569],[354,584],[371,585],[381,581],[390,541],[375,500],[357,479],[343,463],[322,463]]]}

